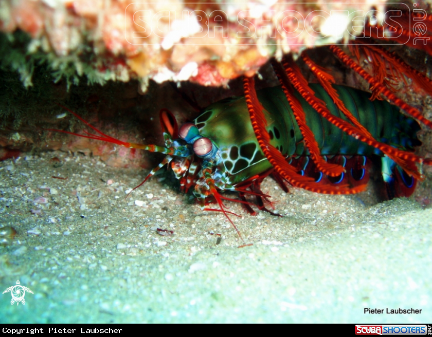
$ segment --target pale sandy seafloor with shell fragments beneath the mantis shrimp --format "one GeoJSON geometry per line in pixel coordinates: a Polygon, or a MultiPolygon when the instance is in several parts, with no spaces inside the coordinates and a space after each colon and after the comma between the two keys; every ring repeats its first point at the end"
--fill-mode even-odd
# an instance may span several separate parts
{"type": "Polygon", "coordinates": [[[226,218],[169,175],[125,199],[146,173],[60,152],[0,163],[0,226],[17,231],[0,246],[0,288],[34,292],[18,306],[0,294],[1,323],[432,321],[432,209],[412,198],[285,194],[267,178],[285,216],[226,202],[253,244],[238,248],[226,218]]]}

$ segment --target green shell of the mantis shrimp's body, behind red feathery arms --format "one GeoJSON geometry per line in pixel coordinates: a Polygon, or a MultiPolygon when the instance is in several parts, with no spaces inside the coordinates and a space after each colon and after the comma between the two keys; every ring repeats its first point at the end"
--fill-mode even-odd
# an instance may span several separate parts
{"type": "MultiPolygon", "coordinates": [[[[315,91],[315,96],[327,104],[333,115],[348,121],[322,86],[310,86],[315,91]]],[[[412,148],[411,142],[416,139],[416,132],[420,129],[415,120],[403,116],[398,107],[388,102],[370,101],[368,92],[345,86],[334,87],[345,106],[376,140],[402,149],[412,148]]],[[[309,155],[281,87],[259,90],[257,96],[264,107],[271,144],[285,157],[309,155]]],[[[296,97],[303,107],[307,124],[315,135],[322,155],[381,154],[379,150],[349,136],[322,118],[297,92],[296,97]]],[[[231,184],[245,181],[272,167],[259,147],[244,97],[214,103],[194,122],[200,134],[210,138],[219,147],[218,165],[229,173],[231,184]]]]}

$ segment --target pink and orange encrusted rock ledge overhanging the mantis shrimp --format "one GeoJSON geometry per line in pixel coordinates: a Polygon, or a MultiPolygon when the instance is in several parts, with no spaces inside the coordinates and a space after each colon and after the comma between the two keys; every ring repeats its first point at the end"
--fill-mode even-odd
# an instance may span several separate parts
{"type": "MultiPolygon", "coordinates": [[[[380,10],[383,4],[374,6],[380,10]]],[[[355,5],[365,12],[370,7],[355,5]]],[[[0,29],[29,33],[35,39],[33,51],[40,47],[59,58],[70,55],[66,61],[91,81],[138,78],[145,90],[149,79],[225,85],[241,74],[253,74],[274,55],[322,43],[319,30],[325,19],[319,15],[312,19],[313,11],[354,7],[350,2],[5,0],[0,9],[0,29]],[[80,58],[89,50],[93,57],[80,58]],[[123,61],[120,68],[118,60],[123,61]],[[191,63],[197,64],[197,73],[184,71],[191,63]]],[[[340,37],[331,41],[335,39],[340,37]]],[[[57,69],[65,59],[51,61],[57,69]]]]}

